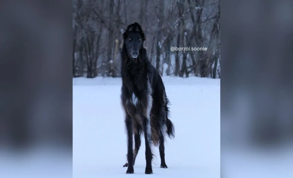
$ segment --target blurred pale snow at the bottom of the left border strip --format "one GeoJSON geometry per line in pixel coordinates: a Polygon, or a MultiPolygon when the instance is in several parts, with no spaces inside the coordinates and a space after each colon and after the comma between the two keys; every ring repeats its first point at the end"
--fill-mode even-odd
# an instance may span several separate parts
{"type": "Polygon", "coordinates": [[[15,151],[11,148],[1,148],[1,178],[72,177],[72,153],[66,148],[60,148],[52,143],[42,143],[28,150],[15,151]]]}

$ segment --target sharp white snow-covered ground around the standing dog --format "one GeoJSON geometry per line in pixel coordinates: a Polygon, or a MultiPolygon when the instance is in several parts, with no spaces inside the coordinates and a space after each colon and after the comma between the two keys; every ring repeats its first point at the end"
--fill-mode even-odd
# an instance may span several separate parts
{"type": "MultiPolygon", "coordinates": [[[[163,77],[175,139],[159,148],[151,177],[220,177],[220,79],[163,77]]],[[[73,78],[73,177],[143,177],[145,145],[126,174],[127,142],[120,104],[121,78],[73,78]]]]}

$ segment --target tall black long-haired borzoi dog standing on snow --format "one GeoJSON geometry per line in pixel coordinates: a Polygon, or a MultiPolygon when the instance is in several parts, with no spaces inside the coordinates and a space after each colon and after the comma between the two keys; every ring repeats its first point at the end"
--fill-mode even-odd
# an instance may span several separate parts
{"type": "Polygon", "coordinates": [[[146,174],[152,174],[151,145],[159,145],[161,168],[165,162],[166,133],[174,138],[174,126],[168,119],[168,99],[159,72],[151,65],[144,48],[145,34],[138,23],[130,24],[122,34],[121,43],[121,101],[125,111],[127,130],[126,173],[134,173],[133,165],[144,133],[146,146],[146,174]],[[133,150],[134,135],[134,150],[133,150]]]}

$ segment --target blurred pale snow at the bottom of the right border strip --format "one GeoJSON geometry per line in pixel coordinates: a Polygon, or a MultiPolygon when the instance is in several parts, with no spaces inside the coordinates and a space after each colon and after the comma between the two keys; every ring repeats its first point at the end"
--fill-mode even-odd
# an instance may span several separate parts
{"type": "Polygon", "coordinates": [[[293,175],[292,143],[257,148],[252,146],[222,146],[222,172],[225,178],[291,178],[293,175]]]}

